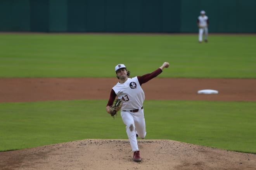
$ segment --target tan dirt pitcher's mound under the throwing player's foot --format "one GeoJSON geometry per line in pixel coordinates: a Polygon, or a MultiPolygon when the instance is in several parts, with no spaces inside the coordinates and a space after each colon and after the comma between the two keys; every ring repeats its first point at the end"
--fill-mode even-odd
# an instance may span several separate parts
{"type": "Polygon", "coordinates": [[[128,140],[86,139],[0,152],[1,170],[254,170],[256,155],[172,140],[138,140],[133,162],[128,140]]]}

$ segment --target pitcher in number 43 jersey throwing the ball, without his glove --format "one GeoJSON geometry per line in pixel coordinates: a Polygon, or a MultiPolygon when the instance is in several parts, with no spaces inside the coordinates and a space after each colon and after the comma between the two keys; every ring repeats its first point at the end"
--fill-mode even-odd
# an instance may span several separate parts
{"type": "Polygon", "coordinates": [[[145,94],[142,90],[142,84],[162,73],[164,68],[168,68],[169,63],[164,62],[157,70],[143,76],[129,78],[130,71],[126,66],[119,64],[115,67],[116,76],[119,82],[112,88],[106,111],[110,114],[110,106],[116,97],[121,99],[121,118],[126,125],[126,133],[130,141],[131,150],[133,151],[133,160],[140,162],[140,151],[138,149],[137,137],[144,139],[146,136],[146,125],[144,119],[143,102],[145,94]]]}

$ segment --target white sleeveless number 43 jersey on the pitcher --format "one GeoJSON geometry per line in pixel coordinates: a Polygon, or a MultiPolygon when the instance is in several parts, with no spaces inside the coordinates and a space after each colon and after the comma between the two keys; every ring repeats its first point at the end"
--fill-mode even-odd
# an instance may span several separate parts
{"type": "Polygon", "coordinates": [[[138,82],[138,78],[128,78],[125,83],[117,83],[113,88],[118,99],[123,101],[122,110],[133,110],[142,107],[145,93],[138,82]]]}

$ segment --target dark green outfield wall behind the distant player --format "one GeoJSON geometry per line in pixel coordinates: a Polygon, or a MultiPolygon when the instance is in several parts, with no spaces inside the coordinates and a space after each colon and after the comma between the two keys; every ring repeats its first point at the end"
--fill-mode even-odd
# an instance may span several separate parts
{"type": "Polygon", "coordinates": [[[256,0],[0,0],[0,31],[256,33],[256,0]]]}

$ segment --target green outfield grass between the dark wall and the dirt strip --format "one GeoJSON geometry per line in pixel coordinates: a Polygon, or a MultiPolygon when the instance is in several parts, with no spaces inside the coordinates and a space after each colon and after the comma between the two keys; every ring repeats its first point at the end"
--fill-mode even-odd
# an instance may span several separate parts
{"type": "Polygon", "coordinates": [[[256,36],[0,34],[0,77],[112,77],[124,63],[134,75],[256,78],[256,36]]]}

